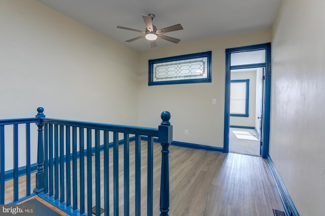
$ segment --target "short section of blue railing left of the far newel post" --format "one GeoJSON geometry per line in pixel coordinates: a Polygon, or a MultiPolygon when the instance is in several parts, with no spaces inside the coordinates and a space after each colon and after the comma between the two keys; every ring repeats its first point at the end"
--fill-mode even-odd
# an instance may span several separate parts
{"type": "MultiPolygon", "coordinates": [[[[0,204],[15,204],[35,193],[31,192],[31,172],[36,170],[36,164],[31,163],[31,123],[38,122],[38,118],[2,119],[0,120],[0,204]],[[24,133],[24,138],[21,135],[24,133]],[[11,137],[12,136],[12,137],[11,137]],[[11,137],[11,138],[10,138],[11,137]],[[18,138],[25,145],[25,161],[18,161],[19,146],[18,138]],[[8,140],[8,142],[7,142],[8,140]],[[9,144],[10,143],[10,144],[9,144]],[[8,155],[8,152],[13,152],[8,155]],[[12,159],[12,166],[6,167],[6,158],[12,159]],[[19,166],[18,162],[25,162],[24,166],[19,166]],[[25,176],[24,196],[19,197],[19,177],[25,176]],[[5,197],[6,182],[11,181],[13,190],[7,192],[5,197]],[[6,201],[8,200],[8,201],[6,201]]],[[[20,155],[21,156],[21,155],[20,155]]],[[[8,160],[8,159],[7,159],[8,160]]]]}

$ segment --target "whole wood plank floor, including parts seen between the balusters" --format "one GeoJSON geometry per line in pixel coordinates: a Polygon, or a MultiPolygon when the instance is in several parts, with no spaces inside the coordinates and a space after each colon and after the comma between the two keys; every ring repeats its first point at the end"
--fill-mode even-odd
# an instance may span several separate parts
{"type": "MultiPolygon", "coordinates": [[[[146,143],[142,142],[141,215],[146,215],[146,143]]],[[[153,215],[159,215],[160,145],[154,144],[153,215]]],[[[269,167],[261,157],[224,154],[170,147],[170,215],[273,215],[272,209],[283,210],[269,167]]],[[[134,145],[130,145],[130,215],[134,215],[134,145]]],[[[110,172],[112,168],[110,151],[110,172]]],[[[103,164],[103,152],[101,164],[103,164]]],[[[119,148],[119,205],[123,212],[123,146],[119,148]]],[[[93,157],[94,161],[94,157],[93,157]]],[[[94,162],[93,164],[94,165],[94,162]]],[[[101,165],[102,169],[103,166],[101,165]]],[[[94,176],[94,168],[93,176],[94,176]]],[[[102,170],[103,171],[103,170],[102,170]]],[[[78,174],[79,175],[79,174],[78,174]]],[[[34,177],[35,175],[32,174],[34,177]]],[[[101,175],[102,176],[102,175],[101,175]]],[[[113,175],[110,175],[111,178],[113,175]]],[[[103,182],[103,178],[101,178],[103,182]]],[[[21,178],[23,182],[23,177],[21,178]]],[[[35,185],[35,180],[32,180],[35,185]]],[[[110,179],[110,215],[113,210],[113,181],[110,179]]],[[[93,181],[94,184],[94,181],[93,181]]],[[[31,187],[34,188],[34,185],[31,187]]],[[[103,186],[101,206],[104,205],[103,186]]],[[[24,186],[19,188],[20,197],[24,186]]],[[[79,187],[78,187],[79,190],[79,187]]],[[[93,186],[94,191],[94,186],[93,186]]],[[[12,182],[6,183],[6,201],[10,201],[12,182]]],[[[94,202],[93,196],[93,202],[94,202]]],[[[93,204],[94,205],[94,204],[93,204]]],[[[104,215],[104,214],[102,214],[104,215]]]]}

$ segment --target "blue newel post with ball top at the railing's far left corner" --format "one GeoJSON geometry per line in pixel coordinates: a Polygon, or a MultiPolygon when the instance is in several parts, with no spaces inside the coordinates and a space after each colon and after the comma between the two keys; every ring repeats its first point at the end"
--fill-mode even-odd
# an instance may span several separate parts
{"type": "Polygon", "coordinates": [[[43,152],[43,122],[41,118],[44,118],[45,115],[43,113],[44,108],[37,108],[38,122],[36,125],[38,126],[38,143],[37,143],[37,173],[36,173],[36,188],[34,192],[39,194],[44,191],[44,152],[43,152]]]}

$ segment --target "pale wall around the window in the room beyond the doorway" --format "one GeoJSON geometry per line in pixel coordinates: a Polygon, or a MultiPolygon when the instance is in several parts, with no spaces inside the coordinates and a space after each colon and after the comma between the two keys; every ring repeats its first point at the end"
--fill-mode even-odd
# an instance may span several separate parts
{"type": "Polygon", "coordinates": [[[231,80],[249,79],[248,117],[230,116],[230,125],[255,127],[256,69],[253,71],[231,72],[231,80]]]}

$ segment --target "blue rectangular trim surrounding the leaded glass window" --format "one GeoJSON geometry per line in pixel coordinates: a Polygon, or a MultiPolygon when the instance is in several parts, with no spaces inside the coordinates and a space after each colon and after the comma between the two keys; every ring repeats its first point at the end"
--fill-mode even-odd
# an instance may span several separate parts
{"type": "Polygon", "coordinates": [[[211,56],[212,51],[202,52],[202,53],[193,53],[193,54],[186,54],[181,56],[173,56],[161,59],[153,59],[149,60],[149,81],[148,85],[166,85],[166,84],[185,84],[185,83],[200,83],[200,82],[211,82],[211,56]],[[153,81],[153,65],[157,63],[164,63],[164,62],[171,62],[171,61],[179,61],[179,60],[187,60],[187,59],[194,59],[194,58],[202,58],[207,57],[208,65],[207,65],[207,78],[202,79],[183,79],[183,80],[171,80],[171,81],[153,81]]]}

